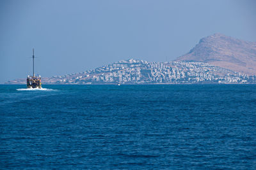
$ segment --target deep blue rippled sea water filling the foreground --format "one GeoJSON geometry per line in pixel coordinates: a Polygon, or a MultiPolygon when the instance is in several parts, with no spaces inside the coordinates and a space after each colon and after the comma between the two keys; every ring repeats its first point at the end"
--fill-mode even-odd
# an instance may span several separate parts
{"type": "Polygon", "coordinates": [[[0,169],[256,169],[256,85],[0,85],[0,169]]]}

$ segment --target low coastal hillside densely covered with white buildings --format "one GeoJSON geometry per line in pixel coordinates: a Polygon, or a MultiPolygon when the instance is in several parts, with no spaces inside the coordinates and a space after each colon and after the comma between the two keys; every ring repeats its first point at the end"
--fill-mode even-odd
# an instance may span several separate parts
{"type": "MultiPolygon", "coordinates": [[[[205,62],[122,60],[82,73],[42,78],[42,84],[255,83],[256,76],[205,62]]],[[[25,79],[8,81],[26,83],[25,79]]]]}

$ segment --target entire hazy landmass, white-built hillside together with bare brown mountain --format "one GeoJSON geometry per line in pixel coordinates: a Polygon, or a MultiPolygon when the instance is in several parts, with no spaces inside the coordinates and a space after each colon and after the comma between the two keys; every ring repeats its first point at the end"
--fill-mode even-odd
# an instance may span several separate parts
{"type": "MultiPolygon", "coordinates": [[[[256,43],[214,34],[174,62],[121,60],[88,71],[42,78],[45,84],[256,83],[256,43]],[[213,63],[212,63],[213,62],[213,63]],[[220,67],[222,66],[222,67],[220,67]]],[[[8,81],[24,84],[26,80],[8,81]]]]}

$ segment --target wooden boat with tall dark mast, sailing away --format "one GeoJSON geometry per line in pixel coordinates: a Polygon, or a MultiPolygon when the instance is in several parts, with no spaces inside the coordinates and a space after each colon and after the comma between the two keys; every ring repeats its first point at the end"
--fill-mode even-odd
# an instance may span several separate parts
{"type": "Polygon", "coordinates": [[[33,76],[29,76],[27,78],[27,88],[28,89],[41,89],[42,84],[41,84],[41,76],[35,76],[35,71],[34,71],[34,62],[35,62],[35,55],[34,55],[34,48],[33,48],[33,76]]]}

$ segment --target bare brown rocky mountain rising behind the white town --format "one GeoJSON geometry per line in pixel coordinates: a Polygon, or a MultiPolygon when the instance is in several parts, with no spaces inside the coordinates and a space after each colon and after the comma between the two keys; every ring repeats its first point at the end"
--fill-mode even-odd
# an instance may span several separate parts
{"type": "Polygon", "coordinates": [[[189,53],[176,61],[207,62],[250,75],[256,75],[256,42],[243,41],[217,33],[200,39],[189,53]]]}

